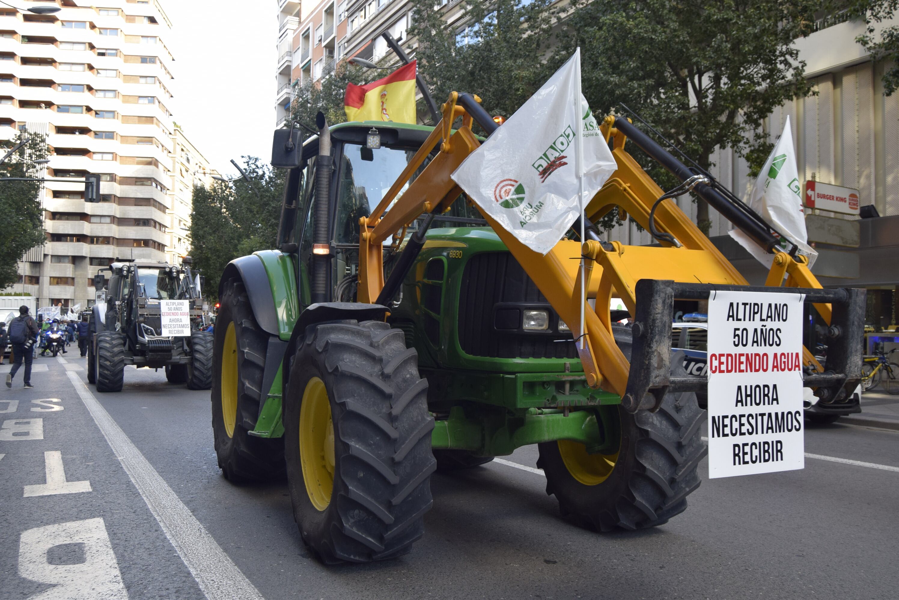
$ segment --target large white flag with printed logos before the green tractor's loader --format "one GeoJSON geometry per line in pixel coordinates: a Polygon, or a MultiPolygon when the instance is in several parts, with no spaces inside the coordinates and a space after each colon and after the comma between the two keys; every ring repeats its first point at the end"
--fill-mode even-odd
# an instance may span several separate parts
{"type": "Polygon", "coordinates": [[[578,131],[584,205],[618,168],[579,94],[580,80],[579,49],[452,174],[477,207],[541,254],[552,250],[581,214],[578,131]]]}

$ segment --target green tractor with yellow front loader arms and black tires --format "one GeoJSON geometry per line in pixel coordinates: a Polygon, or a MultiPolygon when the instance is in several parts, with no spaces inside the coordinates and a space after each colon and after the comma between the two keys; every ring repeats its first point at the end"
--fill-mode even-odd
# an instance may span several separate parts
{"type": "MultiPolygon", "coordinates": [[[[686,508],[706,454],[695,394],[705,380],[670,359],[672,294],[695,310],[705,284],[746,282],[667,200],[655,225],[682,248],[619,244],[615,256],[668,252],[643,260],[645,277],[689,283],[665,288],[674,290],[667,307],[654,305],[668,312],[649,314],[645,304],[664,296],[641,287],[649,279],[633,296],[594,275],[584,350],[571,300],[577,260],[568,257],[588,240],[560,241],[562,267],[547,266],[549,255],[528,254],[481,215],[449,173],[478,144],[472,119],[487,135],[497,126],[467,94],[443,112],[444,121],[463,117],[462,128],[328,127],[319,115],[318,135],[305,143],[293,128],[275,133],[272,164],[289,169],[279,249],[232,261],[219,287],[211,393],[219,467],[230,481],[286,472],[302,538],[329,564],[404,554],[423,535],[432,472],[534,444],[547,493],[567,518],[602,532],[662,525],[686,508]],[[694,254],[679,260],[683,252],[694,254]],[[695,260],[700,253],[708,260],[695,260]],[[679,266],[656,277],[669,259],[679,266]],[[627,315],[610,321],[616,288],[633,327],[615,322],[627,315]]],[[[611,139],[624,125],[607,119],[603,132],[611,139]]],[[[646,208],[604,188],[587,216],[617,203],[645,219],[662,190],[623,141],[615,155],[616,181],[642,178],[645,192],[628,189],[646,208]]],[[[757,224],[745,228],[761,235],[757,224]]],[[[588,238],[613,253],[595,230],[588,238]]],[[[604,259],[596,260],[594,272],[604,259]]]]}

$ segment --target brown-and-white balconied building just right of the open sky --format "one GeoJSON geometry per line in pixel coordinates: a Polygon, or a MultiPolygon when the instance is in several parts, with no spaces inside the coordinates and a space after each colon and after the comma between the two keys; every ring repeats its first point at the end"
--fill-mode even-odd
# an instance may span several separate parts
{"type": "Polygon", "coordinates": [[[278,2],[278,65],[275,121],[280,127],[295,89],[334,70],[347,56],[347,0],[278,2]]]}

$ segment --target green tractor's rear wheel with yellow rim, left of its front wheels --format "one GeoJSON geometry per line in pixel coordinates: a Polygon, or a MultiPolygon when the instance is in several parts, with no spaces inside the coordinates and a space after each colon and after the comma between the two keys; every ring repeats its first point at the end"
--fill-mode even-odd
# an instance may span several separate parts
{"type": "Polygon", "coordinates": [[[229,481],[284,474],[280,437],[253,437],[263,401],[267,334],[256,322],[243,281],[229,279],[219,299],[212,360],[212,432],[218,467],[229,481]]]}

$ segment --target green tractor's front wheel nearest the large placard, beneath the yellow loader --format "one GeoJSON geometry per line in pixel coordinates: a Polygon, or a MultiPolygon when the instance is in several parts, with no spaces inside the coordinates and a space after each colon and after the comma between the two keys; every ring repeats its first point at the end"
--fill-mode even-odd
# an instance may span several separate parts
{"type": "MultiPolygon", "coordinates": [[[[629,358],[630,329],[613,333],[629,358]]],[[[686,375],[681,361],[672,360],[672,374],[686,375]]],[[[607,414],[615,418],[614,409],[607,414]]],[[[540,444],[537,466],[546,473],[547,494],[556,495],[563,515],[598,531],[663,525],[699,488],[697,466],[707,453],[703,414],[694,393],[670,393],[657,412],[632,415],[617,407],[615,452],[587,454],[583,444],[570,441],[540,444]]]]}

